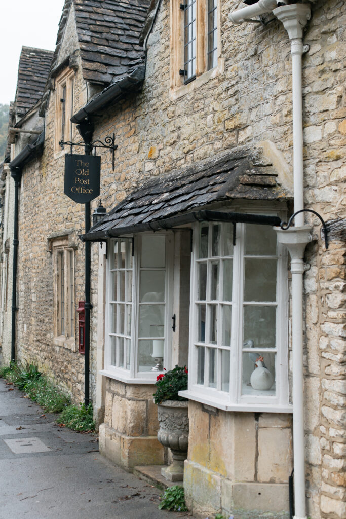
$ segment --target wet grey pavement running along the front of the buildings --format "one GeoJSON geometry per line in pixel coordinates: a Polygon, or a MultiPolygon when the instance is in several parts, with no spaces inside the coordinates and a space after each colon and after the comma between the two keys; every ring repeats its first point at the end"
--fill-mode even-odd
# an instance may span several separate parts
{"type": "Polygon", "coordinates": [[[0,519],[178,519],[161,491],[112,465],[96,434],[61,428],[56,415],[0,379],[0,519]]]}

